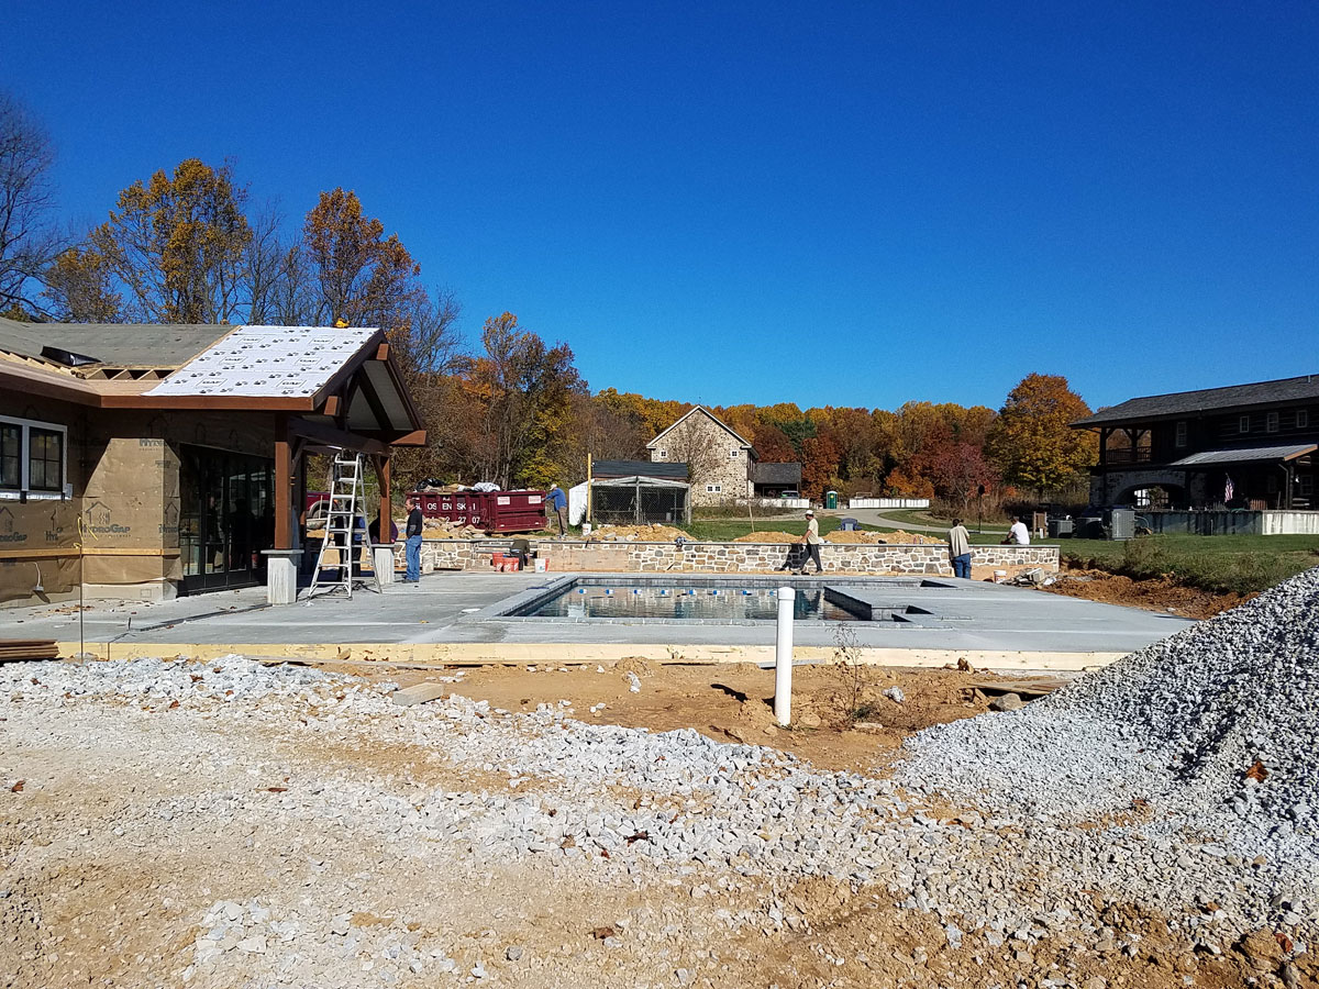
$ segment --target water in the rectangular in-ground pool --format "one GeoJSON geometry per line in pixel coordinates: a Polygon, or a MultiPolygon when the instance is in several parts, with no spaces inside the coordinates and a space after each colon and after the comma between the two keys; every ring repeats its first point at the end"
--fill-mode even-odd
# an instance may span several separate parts
{"type": "MultiPolygon", "coordinates": [[[[774,621],[774,587],[719,587],[674,582],[630,587],[621,582],[578,580],[559,593],[532,601],[512,614],[534,618],[669,618],[707,621],[774,621]]],[[[798,588],[793,601],[798,621],[860,621],[845,608],[824,600],[824,589],[798,588]]]]}

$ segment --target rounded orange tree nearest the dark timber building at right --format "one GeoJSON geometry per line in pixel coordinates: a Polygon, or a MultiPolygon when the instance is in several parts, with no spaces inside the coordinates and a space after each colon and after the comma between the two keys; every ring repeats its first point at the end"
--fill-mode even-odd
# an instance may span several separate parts
{"type": "Polygon", "coordinates": [[[1008,393],[989,430],[991,459],[1005,481],[1043,496],[1095,463],[1095,435],[1070,426],[1087,415],[1089,406],[1067,386],[1066,377],[1028,375],[1008,393]]]}

